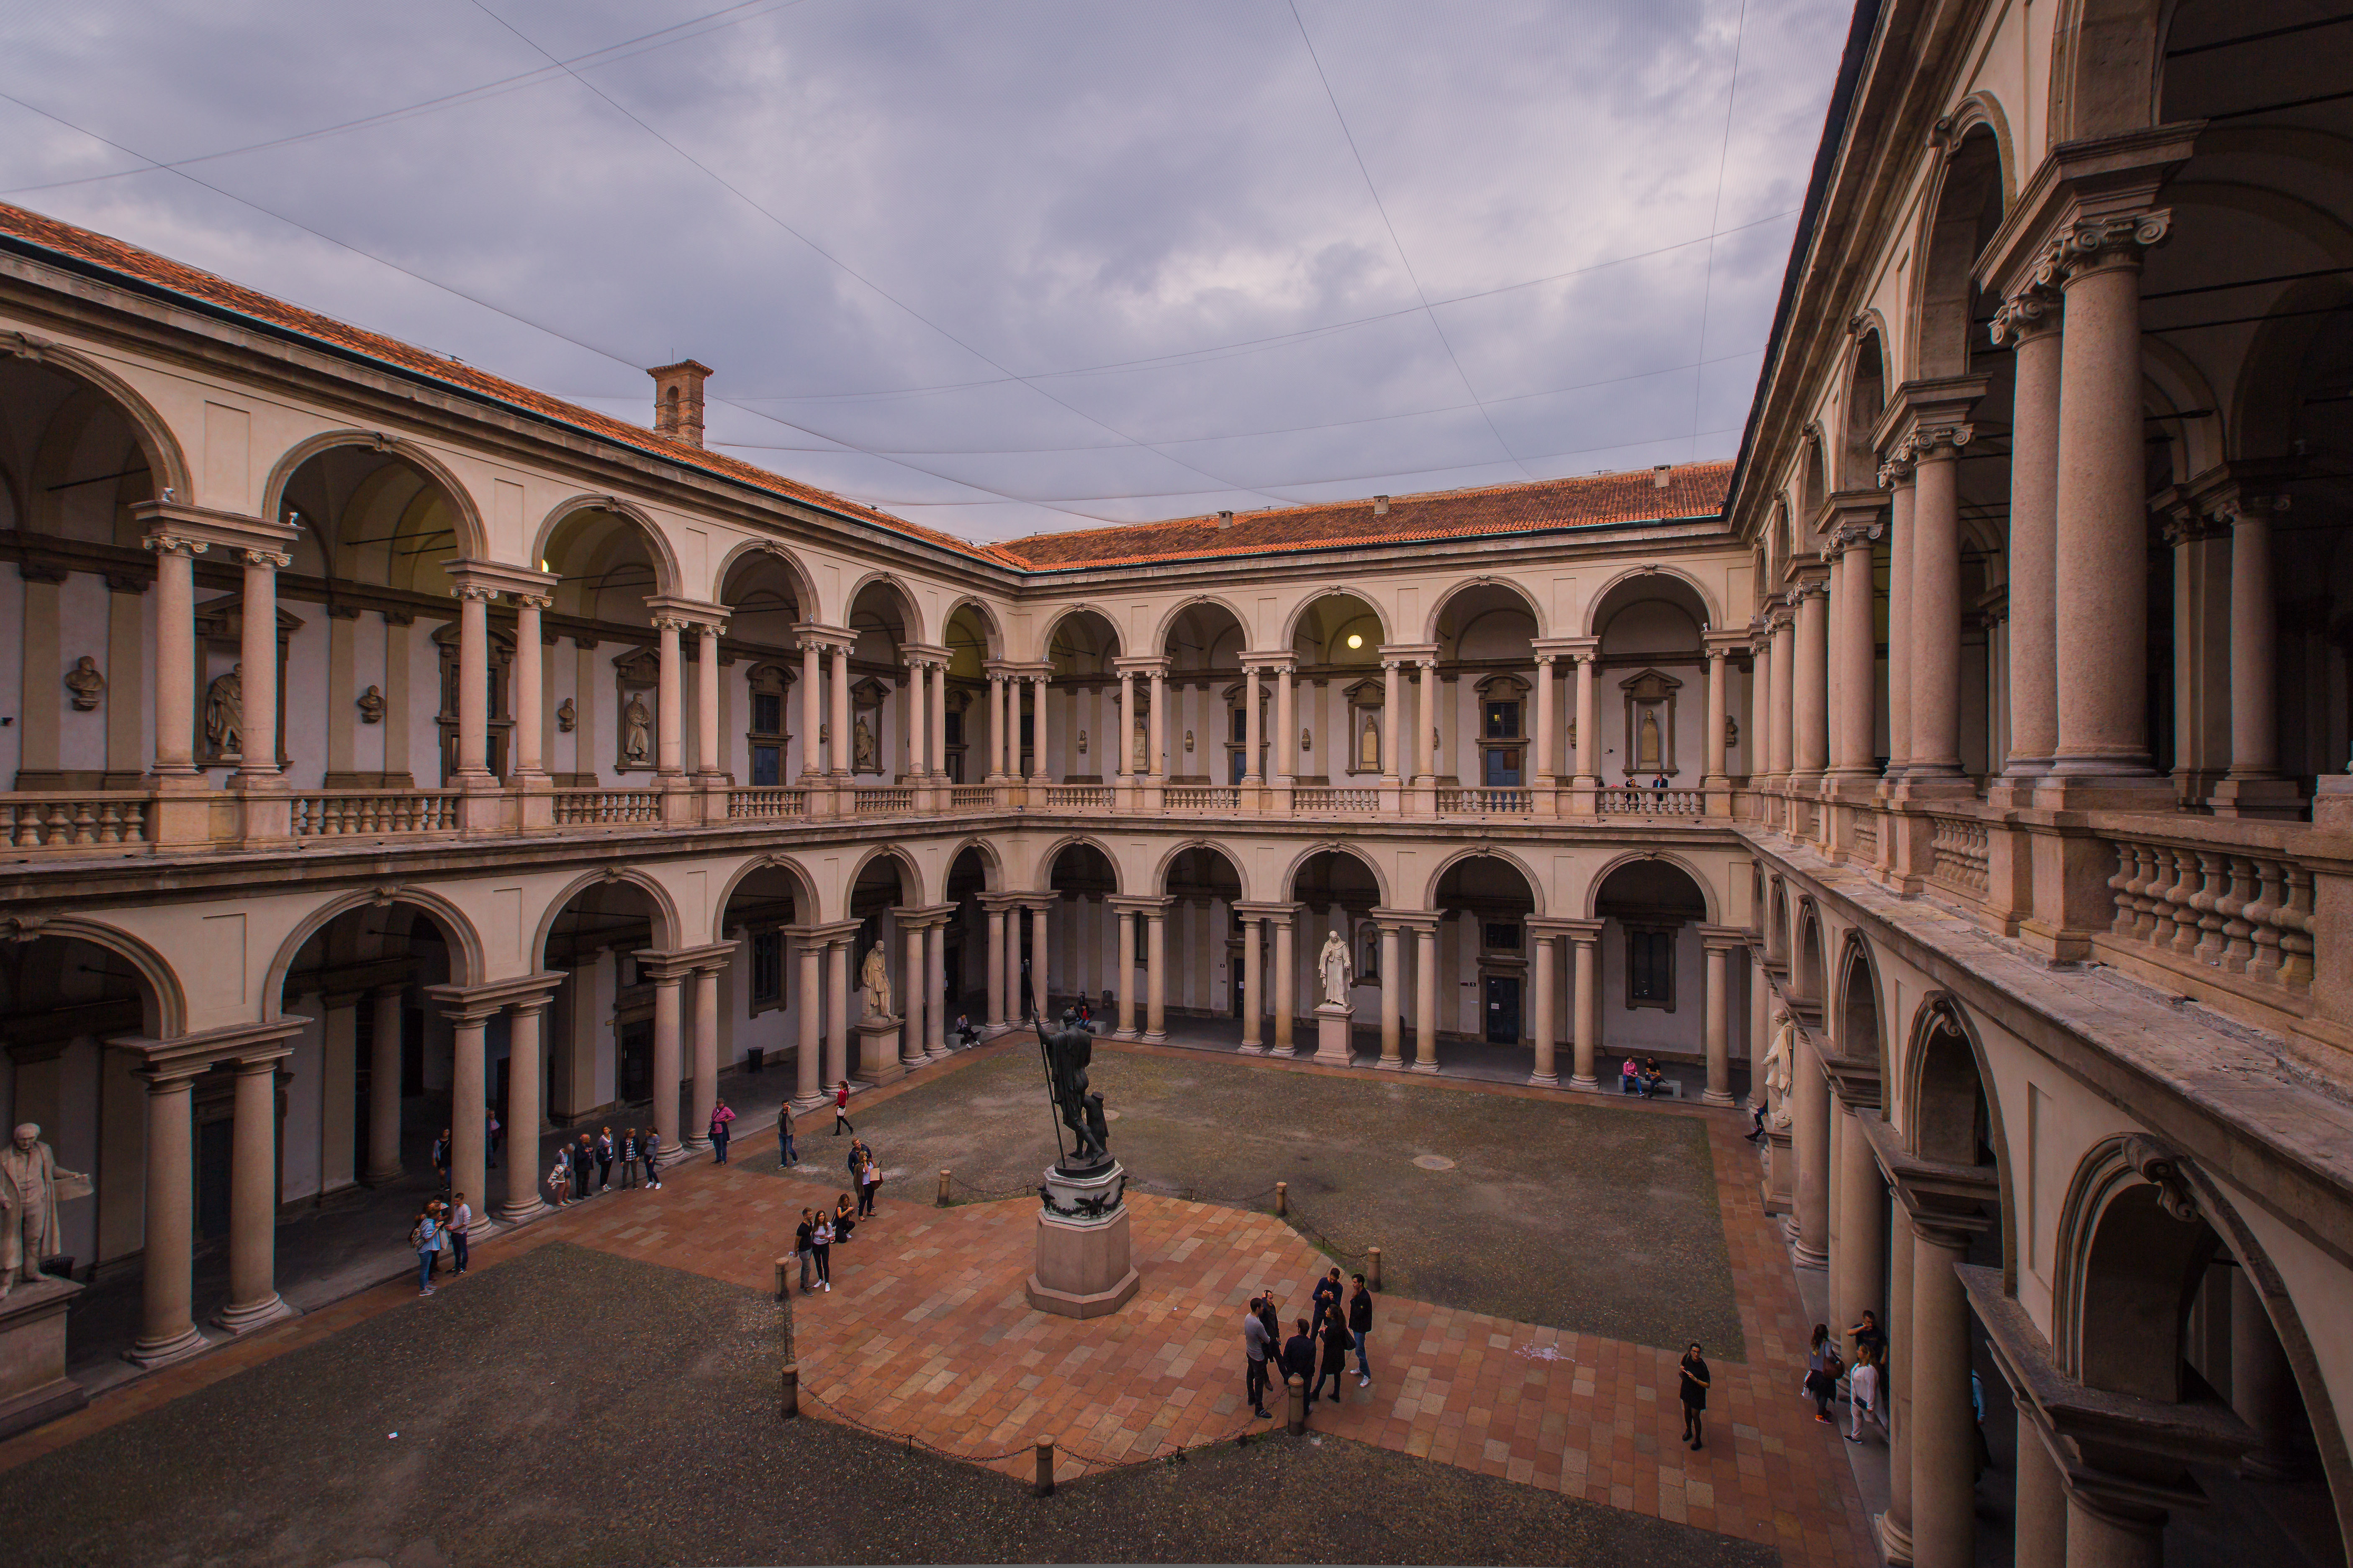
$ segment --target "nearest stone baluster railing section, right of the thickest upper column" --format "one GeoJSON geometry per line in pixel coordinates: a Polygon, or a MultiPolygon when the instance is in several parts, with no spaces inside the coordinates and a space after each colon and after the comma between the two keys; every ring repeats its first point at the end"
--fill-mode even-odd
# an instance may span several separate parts
{"type": "Polygon", "coordinates": [[[2311,987],[2320,954],[2306,867],[2259,849],[2137,837],[2113,844],[2108,889],[2118,938],[2165,964],[2205,964],[2257,983],[2311,987]]]}

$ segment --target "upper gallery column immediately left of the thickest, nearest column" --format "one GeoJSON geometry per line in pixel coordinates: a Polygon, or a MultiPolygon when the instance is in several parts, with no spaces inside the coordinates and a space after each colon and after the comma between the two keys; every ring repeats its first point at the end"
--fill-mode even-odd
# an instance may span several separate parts
{"type": "MultiPolygon", "coordinates": [[[[2002,778],[2031,780],[2059,745],[2054,583],[2059,538],[2059,292],[2028,284],[1993,315],[2017,341],[2009,395],[2009,755],[2002,778]]],[[[2024,1561],[2024,1559],[2021,1559],[2024,1561]]]]}

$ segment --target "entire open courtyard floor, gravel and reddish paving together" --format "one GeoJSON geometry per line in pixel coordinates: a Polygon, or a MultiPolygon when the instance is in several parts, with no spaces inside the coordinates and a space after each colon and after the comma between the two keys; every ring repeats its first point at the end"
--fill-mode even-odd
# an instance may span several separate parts
{"type": "Polygon", "coordinates": [[[824,1112],[824,1187],[758,1128],[431,1300],[386,1284],[0,1443],[0,1561],[1868,1561],[1842,1446],[1786,1396],[1805,1324],[1739,1117],[1106,1048],[1144,1288],[1073,1324],[1021,1293],[1035,1201],[986,1197],[1052,1159],[1035,1074],[1007,1039],[856,1095],[899,1175],[828,1295],[772,1293],[838,1190],[824,1112]],[[934,1206],[939,1168],[979,1197],[934,1206]],[[1313,1237],[1207,1201],[1273,1180],[1313,1237]],[[1240,1302],[1289,1319],[1367,1244],[1374,1385],[1306,1436],[1254,1420],[1240,1302]]]}

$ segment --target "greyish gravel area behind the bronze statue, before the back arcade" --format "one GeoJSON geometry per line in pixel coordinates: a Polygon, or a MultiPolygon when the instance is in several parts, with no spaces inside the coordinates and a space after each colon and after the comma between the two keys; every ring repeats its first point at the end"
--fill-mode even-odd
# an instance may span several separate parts
{"type": "MultiPolygon", "coordinates": [[[[1268,1190],[1289,1182],[1301,1232],[1348,1267],[1379,1246],[1388,1291],[1748,1359],[1697,1117],[1115,1046],[1096,1048],[1092,1084],[1118,1114],[1111,1152],[1129,1180],[1249,1208],[1273,1208],[1268,1190]]],[[[960,1197],[1033,1192],[1054,1161],[1033,1048],[852,1103],[852,1119],[882,1157],[885,1204],[929,1204],[941,1168],[960,1197]]],[[[805,1126],[795,1180],[831,1197],[849,1140],[826,1133],[831,1110],[805,1126]]],[[[776,1171],[772,1143],[751,1147],[746,1166],[776,1171]]]]}

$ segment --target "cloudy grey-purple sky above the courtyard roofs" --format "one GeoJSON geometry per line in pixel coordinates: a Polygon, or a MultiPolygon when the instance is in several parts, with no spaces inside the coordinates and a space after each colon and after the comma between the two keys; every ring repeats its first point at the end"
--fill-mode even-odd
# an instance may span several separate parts
{"type": "Polygon", "coordinates": [[[0,0],[0,200],[969,538],[1729,456],[1845,0],[0,0]]]}

